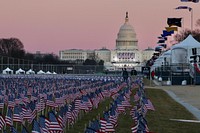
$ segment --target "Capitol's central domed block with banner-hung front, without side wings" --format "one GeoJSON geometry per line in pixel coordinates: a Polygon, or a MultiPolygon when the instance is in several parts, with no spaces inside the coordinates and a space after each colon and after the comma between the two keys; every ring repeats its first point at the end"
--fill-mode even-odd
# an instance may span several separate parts
{"type": "Polygon", "coordinates": [[[141,52],[138,50],[136,33],[129,23],[128,12],[126,12],[125,23],[117,34],[116,49],[111,50],[111,63],[116,69],[133,68],[142,62],[141,52]]]}

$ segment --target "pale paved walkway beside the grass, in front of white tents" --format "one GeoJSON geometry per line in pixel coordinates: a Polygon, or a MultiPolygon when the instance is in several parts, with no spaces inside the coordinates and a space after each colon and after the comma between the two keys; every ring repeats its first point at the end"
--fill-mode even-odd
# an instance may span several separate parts
{"type": "MultiPolygon", "coordinates": [[[[156,83],[157,84],[157,83],[156,83]]],[[[183,105],[189,110],[198,120],[200,120],[200,86],[155,86],[153,88],[163,89],[175,101],[183,105]]]]}

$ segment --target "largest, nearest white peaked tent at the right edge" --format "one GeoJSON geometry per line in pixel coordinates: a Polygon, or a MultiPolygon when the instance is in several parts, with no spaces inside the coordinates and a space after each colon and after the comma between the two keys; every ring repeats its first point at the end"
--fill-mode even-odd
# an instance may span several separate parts
{"type": "Polygon", "coordinates": [[[171,63],[189,63],[192,48],[200,49],[200,43],[189,35],[185,40],[171,47],[171,63]]]}

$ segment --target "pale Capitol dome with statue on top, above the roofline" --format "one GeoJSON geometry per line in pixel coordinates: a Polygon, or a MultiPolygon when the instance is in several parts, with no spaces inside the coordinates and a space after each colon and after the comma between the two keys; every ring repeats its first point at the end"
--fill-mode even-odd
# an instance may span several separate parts
{"type": "Polygon", "coordinates": [[[125,23],[120,27],[117,34],[116,49],[138,49],[135,30],[128,20],[128,12],[126,12],[125,23]]]}

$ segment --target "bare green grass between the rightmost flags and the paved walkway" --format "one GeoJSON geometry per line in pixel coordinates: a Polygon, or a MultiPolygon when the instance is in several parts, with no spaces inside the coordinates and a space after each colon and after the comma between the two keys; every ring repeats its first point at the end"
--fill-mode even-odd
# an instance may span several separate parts
{"type": "Polygon", "coordinates": [[[195,117],[183,106],[170,98],[163,90],[146,89],[148,98],[152,101],[155,111],[147,112],[147,122],[150,131],[156,133],[199,133],[200,123],[171,121],[170,119],[195,120],[195,117]]]}

